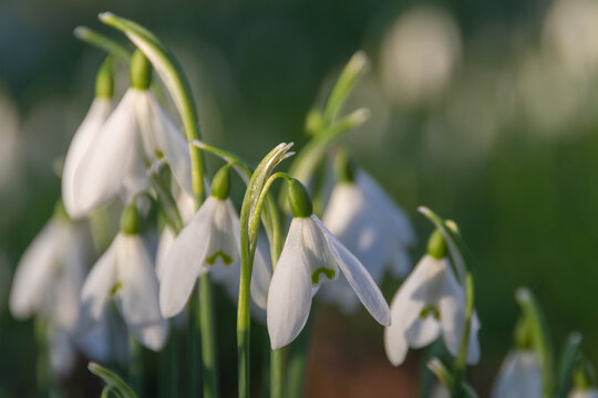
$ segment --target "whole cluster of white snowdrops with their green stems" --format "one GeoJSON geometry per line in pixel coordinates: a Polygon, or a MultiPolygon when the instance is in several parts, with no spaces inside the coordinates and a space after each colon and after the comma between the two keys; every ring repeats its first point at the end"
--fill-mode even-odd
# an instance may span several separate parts
{"type": "MultiPolygon", "coordinates": [[[[297,155],[292,144],[280,144],[252,167],[202,140],[185,74],[154,34],[112,13],[100,19],[122,31],[135,49],[130,52],[90,29],[75,31],[109,55],[64,159],[62,198],[23,254],[10,296],[16,317],[40,320],[51,374],[60,378],[72,371],[81,350],[95,362],[90,370],[104,379],[106,396],[134,397],[138,391],[100,364],[118,356],[133,362],[127,344],[166,349],[172,329],[188,314],[190,338],[200,336],[196,360],[203,368],[203,395],[217,397],[212,284],[220,283],[238,308],[239,397],[250,391],[252,321],[265,323],[269,334],[269,395],[300,395],[300,386],[285,381],[286,350],[306,327],[316,294],[346,313],[363,304],[384,326],[383,344],[395,366],[410,347],[442,341],[444,360],[434,357],[427,364],[437,378],[433,394],[475,397],[465,370],[480,360],[481,322],[472,261],[456,223],[419,209],[434,229],[426,253],[411,270],[415,233],[409,218],[337,143],[369,117],[367,109],[341,114],[367,66],[365,55],[353,55],[324,106],[309,113],[310,140],[297,155]],[[116,61],[128,65],[131,77],[118,101],[116,61]],[[178,114],[174,118],[166,111],[168,100],[178,114]],[[205,156],[223,163],[212,178],[205,156]],[[278,171],[287,158],[289,171],[278,171]],[[271,189],[277,180],[279,195],[271,189]],[[240,214],[229,198],[237,181],[246,189],[240,214]],[[87,272],[97,233],[89,226],[115,211],[120,232],[87,272]],[[386,271],[405,277],[390,306],[378,287],[386,271]],[[114,327],[115,316],[124,326],[114,327]],[[136,343],[127,343],[127,336],[136,343]]],[[[493,397],[598,397],[580,335],[565,343],[557,373],[538,304],[526,289],[516,298],[522,315],[514,349],[493,397]]],[[[169,384],[165,396],[178,396],[176,380],[162,379],[169,384]]],[[[190,395],[197,391],[192,388],[190,395]]]]}

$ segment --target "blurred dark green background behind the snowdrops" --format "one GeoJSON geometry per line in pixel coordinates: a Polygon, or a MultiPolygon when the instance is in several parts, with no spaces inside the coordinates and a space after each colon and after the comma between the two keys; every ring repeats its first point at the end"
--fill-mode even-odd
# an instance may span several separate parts
{"type": "MultiPolygon", "coordinates": [[[[306,113],[364,50],[371,67],[348,109],[367,106],[372,118],[343,143],[411,214],[414,261],[431,231],[419,205],[460,223],[476,266],[483,356],[471,379],[481,396],[512,344],[517,286],[537,294],[557,352],[568,332],[580,331],[584,348],[598,356],[597,1],[4,0],[0,397],[33,394],[32,323],[8,313],[10,282],[52,213],[56,159],[86,113],[103,60],[72,31],[85,24],[124,42],[97,22],[106,10],[173,48],[199,98],[205,140],[251,161],[280,142],[300,149],[306,113]]],[[[388,300],[398,285],[384,282],[388,300]]],[[[369,316],[322,308],[308,396],[414,396],[417,354],[395,369],[369,316]]],[[[223,324],[234,328],[234,320],[223,324]]],[[[234,329],[220,345],[229,339],[234,329]]],[[[234,355],[221,364],[231,384],[234,355]]],[[[99,386],[84,368],[69,383],[73,396],[99,386]]]]}

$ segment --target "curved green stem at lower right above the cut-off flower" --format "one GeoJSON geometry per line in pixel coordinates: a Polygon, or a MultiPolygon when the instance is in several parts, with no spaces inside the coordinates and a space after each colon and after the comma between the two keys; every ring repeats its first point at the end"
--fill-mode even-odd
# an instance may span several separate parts
{"type": "Polygon", "coordinates": [[[534,349],[538,356],[542,379],[543,379],[543,396],[549,398],[554,392],[554,357],[553,345],[550,343],[550,336],[548,335],[548,327],[544,314],[540,310],[536,297],[526,287],[519,287],[515,293],[515,297],[522,307],[522,312],[527,318],[534,349]]]}

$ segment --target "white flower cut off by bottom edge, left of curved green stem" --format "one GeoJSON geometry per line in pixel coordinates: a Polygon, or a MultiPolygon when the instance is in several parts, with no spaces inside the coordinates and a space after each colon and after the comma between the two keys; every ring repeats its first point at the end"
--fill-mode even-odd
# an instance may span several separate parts
{"type": "Polygon", "coordinates": [[[540,398],[542,396],[540,367],[536,353],[520,349],[508,353],[498,370],[492,398],[540,398]]]}

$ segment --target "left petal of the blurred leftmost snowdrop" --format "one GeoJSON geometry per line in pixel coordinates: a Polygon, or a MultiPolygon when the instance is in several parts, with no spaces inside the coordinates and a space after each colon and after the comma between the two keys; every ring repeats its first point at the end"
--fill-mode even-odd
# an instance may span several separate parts
{"type": "Polygon", "coordinates": [[[19,320],[31,316],[40,306],[52,275],[60,248],[65,242],[63,224],[50,220],[27,248],[12,281],[10,312],[19,320]]]}

